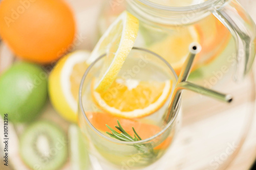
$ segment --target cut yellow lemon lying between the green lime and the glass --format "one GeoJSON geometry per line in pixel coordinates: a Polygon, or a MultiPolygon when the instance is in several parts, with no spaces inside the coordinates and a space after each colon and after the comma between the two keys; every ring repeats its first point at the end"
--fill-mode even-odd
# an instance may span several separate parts
{"type": "Polygon", "coordinates": [[[77,122],[77,103],[80,81],[90,53],[77,51],[61,58],[49,76],[49,95],[53,107],[69,120],[77,122]]]}

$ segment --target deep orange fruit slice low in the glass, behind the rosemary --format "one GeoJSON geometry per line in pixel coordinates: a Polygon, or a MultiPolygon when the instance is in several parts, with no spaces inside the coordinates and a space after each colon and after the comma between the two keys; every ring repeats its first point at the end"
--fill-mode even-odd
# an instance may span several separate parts
{"type": "MultiPolygon", "coordinates": [[[[149,138],[158,132],[161,131],[161,128],[152,125],[152,124],[145,124],[137,122],[136,120],[132,119],[125,119],[117,116],[113,116],[109,113],[100,113],[100,112],[86,112],[86,116],[90,120],[91,124],[99,131],[102,132],[110,132],[110,129],[106,127],[109,125],[111,128],[117,126],[117,120],[120,122],[123,129],[133,136],[134,132],[132,127],[136,130],[136,132],[140,135],[142,139],[149,138]]],[[[172,142],[173,134],[169,135],[163,142],[157,145],[154,149],[167,149],[172,142]]]]}

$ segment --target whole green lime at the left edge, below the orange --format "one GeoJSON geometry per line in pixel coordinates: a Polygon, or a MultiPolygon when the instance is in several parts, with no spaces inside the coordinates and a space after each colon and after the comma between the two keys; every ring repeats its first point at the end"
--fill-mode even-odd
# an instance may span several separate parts
{"type": "Polygon", "coordinates": [[[47,100],[47,74],[27,62],[12,65],[0,76],[0,114],[11,122],[30,122],[47,100]]]}

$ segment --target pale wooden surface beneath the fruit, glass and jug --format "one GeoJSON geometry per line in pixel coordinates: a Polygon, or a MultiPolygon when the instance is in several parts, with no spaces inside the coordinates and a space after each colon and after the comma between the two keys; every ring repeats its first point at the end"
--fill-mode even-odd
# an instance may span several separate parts
{"type": "MultiPolygon", "coordinates": [[[[92,50],[97,40],[97,17],[101,9],[100,6],[104,1],[68,0],[68,2],[72,5],[78,22],[77,36],[80,37],[80,41],[76,48],[92,50]]],[[[256,2],[254,0],[244,0],[242,3],[256,21],[256,11],[254,10],[256,2]]],[[[6,51],[5,55],[0,55],[1,74],[1,71],[8,68],[14,59],[5,45],[0,46],[0,51],[6,51]]],[[[253,72],[256,73],[256,70],[253,72]]],[[[236,91],[235,95],[240,97],[229,108],[223,109],[223,104],[221,103],[215,103],[213,106],[212,102],[214,101],[207,99],[205,99],[205,103],[194,103],[193,107],[188,107],[192,104],[184,101],[183,104],[187,107],[184,107],[183,110],[182,129],[170,152],[163,159],[168,162],[164,167],[166,170],[170,168],[182,170],[249,169],[256,158],[256,116],[245,112],[245,110],[246,108],[251,109],[254,106],[254,103],[249,102],[249,100],[246,101],[248,93],[252,91],[247,88],[255,89],[253,84],[255,82],[253,81],[256,79],[256,76],[254,75],[250,75],[241,86],[236,86],[236,88],[232,89],[236,91]],[[206,114],[208,108],[210,114],[206,114]],[[233,144],[233,142],[237,143],[233,144]],[[236,147],[236,150],[231,153],[228,152],[230,154],[226,153],[227,150],[232,150],[232,146],[236,147]],[[218,159],[225,155],[228,155],[225,160],[218,161],[218,159]]],[[[200,101],[203,100],[200,99],[200,101]]],[[[58,116],[50,104],[47,106],[45,114],[42,114],[42,117],[53,119],[66,130],[69,126],[65,120],[58,116]]],[[[13,132],[19,132],[22,129],[23,127],[13,128],[13,132]]],[[[2,131],[0,133],[2,138],[2,131]]],[[[16,139],[17,136],[14,134],[12,140],[16,139]]],[[[12,164],[14,166],[19,165],[18,162],[21,162],[21,160],[18,157],[17,145],[16,149],[15,145],[13,147],[13,156],[15,160],[13,160],[12,164]]],[[[26,170],[28,168],[19,165],[15,169],[26,170]]],[[[67,162],[63,169],[70,169],[69,162],[67,162]]]]}

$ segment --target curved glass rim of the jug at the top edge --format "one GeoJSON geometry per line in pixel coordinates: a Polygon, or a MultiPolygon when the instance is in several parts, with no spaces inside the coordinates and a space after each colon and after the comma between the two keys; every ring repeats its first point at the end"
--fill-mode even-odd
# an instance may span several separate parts
{"type": "Polygon", "coordinates": [[[148,0],[135,0],[135,1],[139,1],[140,3],[142,3],[146,6],[150,6],[152,8],[157,8],[157,9],[161,9],[161,10],[174,11],[174,12],[188,12],[188,11],[203,10],[203,9],[211,8],[213,4],[215,4],[218,1],[220,2],[223,0],[208,0],[208,1],[200,3],[200,4],[184,6],[184,7],[165,6],[165,5],[153,3],[148,0]],[[200,6],[200,8],[198,8],[199,6],[200,6]]]}

